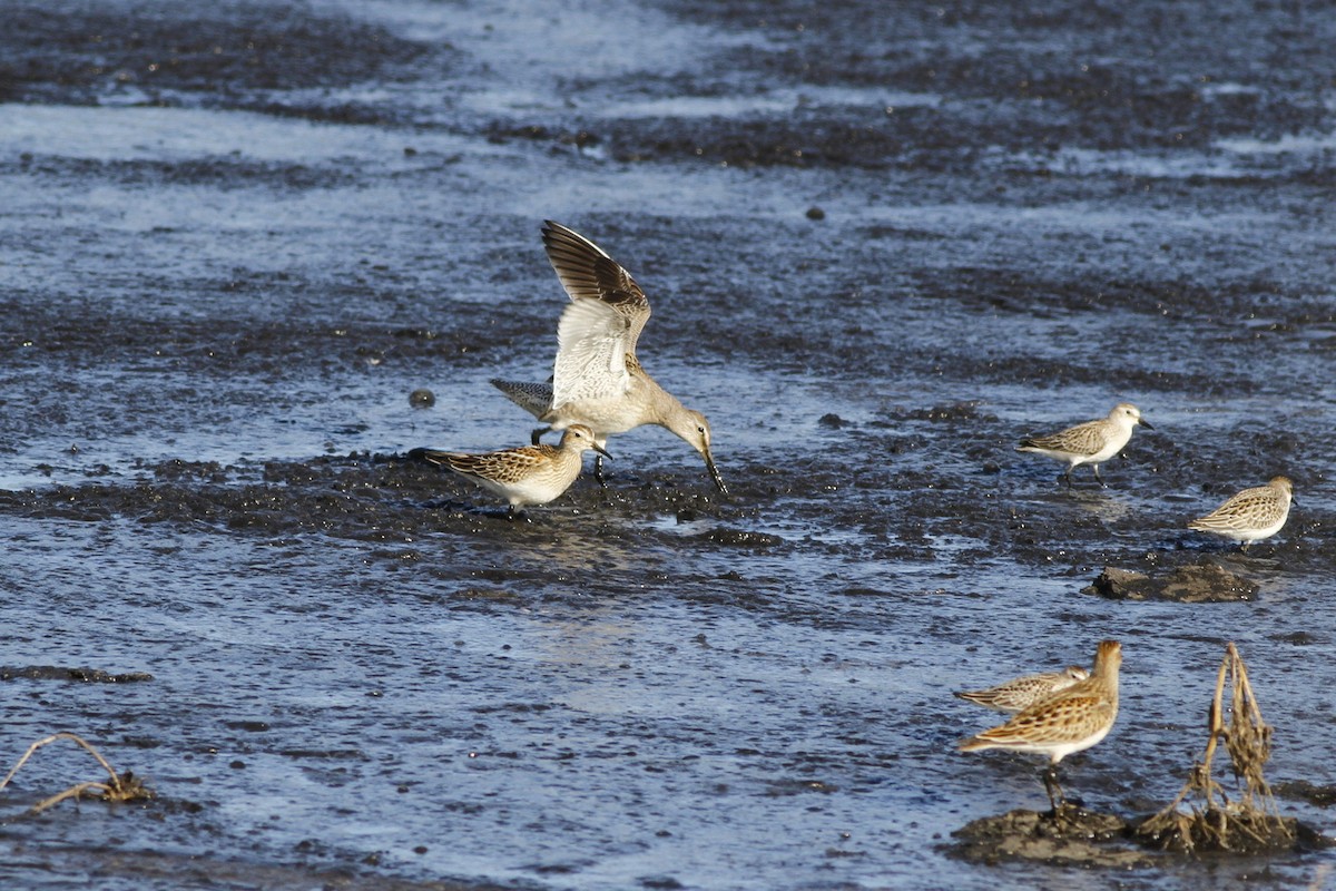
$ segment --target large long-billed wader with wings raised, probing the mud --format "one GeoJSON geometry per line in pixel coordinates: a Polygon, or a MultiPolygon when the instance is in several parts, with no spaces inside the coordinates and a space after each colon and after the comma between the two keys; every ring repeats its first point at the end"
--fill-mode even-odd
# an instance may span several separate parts
{"type": "MultiPolygon", "coordinates": [[[[548,430],[584,423],[603,446],[609,434],[657,423],[699,452],[709,478],[720,492],[728,492],[709,450],[709,421],[659,386],[636,358],[636,341],[649,321],[649,298],[636,279],[601,247],[561,223],[544,223],[542,244],[570,298],[557,323],[552,381],[492,381],[548,425],[533,431],[533,442],[548,430]]],[[[603,482],[601,458],[595,476],[603,482]]]]}

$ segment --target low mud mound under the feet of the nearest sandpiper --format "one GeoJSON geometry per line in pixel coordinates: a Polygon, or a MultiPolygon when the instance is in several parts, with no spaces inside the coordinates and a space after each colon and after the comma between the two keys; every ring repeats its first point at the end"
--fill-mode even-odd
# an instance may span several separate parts
{"type": "Polygon", "coordinates": [[[950,856],[994,866],[1038,860],[1051,866],[1130,870],[1154,860],[1129,844],[1129,826],[1113,814],[1065,808],[1058,815],[1017,810],[974,820],[951,834],[950,856]]]}

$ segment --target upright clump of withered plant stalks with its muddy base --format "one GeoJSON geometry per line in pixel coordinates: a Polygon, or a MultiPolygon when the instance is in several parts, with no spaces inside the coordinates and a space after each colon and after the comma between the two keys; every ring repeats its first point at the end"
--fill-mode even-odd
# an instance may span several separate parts
{"type": "Polygon", "coordinates": [[[1261,717],[1248,669],[1233,644],[1216,673],[1216,695],[1210,701],[1206,748],[1192,765],[1188,781],[1173,801],[1138,827],[1138,835],[1166,848],[1185,852],[1267,851],[1292,846],[1296,840],[1291,820],[1280,816],[1263,765],[1271,757],[1272,727],[1261,717]],[[1229,724],[1225,725],[1225,683],[1230,685],[1229,724]],[[1225,741],[1236,783],[1237,801],[1230,801],[1212,776],[1212,761],[1220,740],[1225,741]],[[1188,811],[1181,807],[1188,804],[1188,811]]]}

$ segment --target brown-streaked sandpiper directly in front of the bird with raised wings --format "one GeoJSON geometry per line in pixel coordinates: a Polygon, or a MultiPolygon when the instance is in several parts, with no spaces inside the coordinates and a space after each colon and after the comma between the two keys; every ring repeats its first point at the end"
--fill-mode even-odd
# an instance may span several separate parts
{"type": "Polygon", "coordinates": [[[582,456],[589,449],[607,456],[595,442],[593,430],[573,423],[556,446],[536,445],[484,454],[413,449],[409,458],[446,466],[462,477],[473,480],[488,492],[505,498],[510,517],[525,505],[542,505],[558,497],[580,476],[582,456]]]}

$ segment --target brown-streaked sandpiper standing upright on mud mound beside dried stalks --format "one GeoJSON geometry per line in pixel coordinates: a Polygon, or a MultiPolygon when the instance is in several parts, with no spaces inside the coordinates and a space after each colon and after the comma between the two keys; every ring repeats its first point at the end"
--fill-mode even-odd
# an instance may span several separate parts
{"type": "Polygon", "coordinates": [[[1058,814],[1066,806],[1058,785],[1058,761],[1090,748],[1113,729],[1118,717],[1118,667],[1122,647],[1116,640],[1100,643],[1090,676],[1021,711],[1001,727],[961,743],[962,752],[1005,748],[1049,756],[1043,788],[1058,814]]]}

